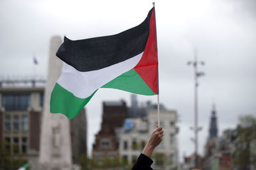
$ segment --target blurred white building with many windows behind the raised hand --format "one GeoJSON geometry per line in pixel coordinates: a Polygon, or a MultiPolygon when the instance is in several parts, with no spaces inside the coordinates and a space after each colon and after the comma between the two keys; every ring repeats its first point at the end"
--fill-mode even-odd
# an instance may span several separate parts
{"type": "MultiPolygon", "coordinates": [[[[175,169],[178,167],[177,112],[160,107],[160,125],[164,128],[164,138],[154,150],[153,169],[175,169]]],[[[124,126],[118,129],[119,153],[122,164],[134,164],[142,152],[148,138],[157,126],[157,105],[147,104],[144,117],[126,118],[124,126]]]]}

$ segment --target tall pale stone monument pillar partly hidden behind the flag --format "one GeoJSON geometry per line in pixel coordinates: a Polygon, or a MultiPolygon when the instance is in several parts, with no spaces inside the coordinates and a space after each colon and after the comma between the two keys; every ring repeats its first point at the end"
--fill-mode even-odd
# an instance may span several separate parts
{"type": "Polygon", "coordinates": [[[38,169],[44,170],[72,169],[70,120],[65,115],[50,113],[51,92],[61,74],[62,61],[56,57],[61,43],[60,36],[52,36],[38,162],[38,169]]]}

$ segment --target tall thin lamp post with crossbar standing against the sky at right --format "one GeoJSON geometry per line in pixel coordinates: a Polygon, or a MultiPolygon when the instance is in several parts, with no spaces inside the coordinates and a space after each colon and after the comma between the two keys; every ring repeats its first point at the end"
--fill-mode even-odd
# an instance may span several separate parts
{"type": "Polygon", "coordinates": [[[193,61],[189,61],[188,62],[188,66],[192,65],[194,67],[194,81],[195,81],[195,99],[194,99],[194,114],[195,114],[195,124],[194,127],[191,127],[191,129],[195,132],[195,138],[193,139],[193,141],[195,142],[195,168],[198,167],[198,157],[197,157],[197,153],[198,153],[198,132],[202,129],[202,127],[198,127],[198,97],[197,97],[197,91],[198,91],[198,77],[200,76],[204,76],[204,72],[202,71],[197,71],[197,66],[198,65],[202,65],[204,66],[204,61],[197,61],[197,51],[195,49],[194,52],[194,57],[195,59],[193,61]]]}

